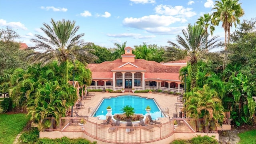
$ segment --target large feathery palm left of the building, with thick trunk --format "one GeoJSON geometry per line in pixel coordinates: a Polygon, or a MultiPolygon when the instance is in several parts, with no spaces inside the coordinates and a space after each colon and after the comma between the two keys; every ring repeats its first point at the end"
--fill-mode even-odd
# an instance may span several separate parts
{"type": "Polygon", "coordinates": [[[93,54],[88,53],[84,40],[80,40],[84,34],[76,35],[79,26],[75,26],[75,21],[70,20],[54,21],[51,20],[52,27],[44,23],[44,27],[40,29],[46,34],[41,36],[36,34],[37,39],[32,38],[31,41],[36,43],[36,46],[29,48],[34,50],[28,54],[27,58],[32,58],[33,62],[41,63],[42,66],[58,61],[61,72],[63,74],[64,83],[68,81],[67,61],[75,62],[79,60],[83,63],[94,62],[96,58],[93,54]]]}

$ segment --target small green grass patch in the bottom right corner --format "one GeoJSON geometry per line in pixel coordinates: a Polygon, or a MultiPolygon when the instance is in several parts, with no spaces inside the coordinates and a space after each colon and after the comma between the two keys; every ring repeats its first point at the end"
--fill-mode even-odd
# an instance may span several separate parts
{"type": "Polygon", "coordinates": [[[238,134],[240,142],[238,144],[256,144],[256,130],[250,130],[238,134]]]}

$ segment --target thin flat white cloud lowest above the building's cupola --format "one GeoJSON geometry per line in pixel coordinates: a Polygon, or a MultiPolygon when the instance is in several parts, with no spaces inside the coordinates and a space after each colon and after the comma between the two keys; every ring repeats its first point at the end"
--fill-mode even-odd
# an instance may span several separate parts
{"type": "Polygon", "coordinates": [[[141,34],[135,34],[135,33],[122,33],[122,34],[106,34],[109,37],[114,38],[135,38],[135,39],[149,39],[149,38],[155,38],[156,36],[142,36],[141,34]]]}

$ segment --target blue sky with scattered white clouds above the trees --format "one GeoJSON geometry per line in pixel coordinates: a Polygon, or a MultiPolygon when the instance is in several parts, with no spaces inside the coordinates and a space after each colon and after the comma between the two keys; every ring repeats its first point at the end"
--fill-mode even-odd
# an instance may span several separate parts
{"type": "MultiPolygon", "coordinates": [[[[0,29],[16,30],[18,40],[28,46],[34,34],[44,36],[40,27],[51,18],[71,20],[80,26],[77,34],[86,42],[115,48],[114,43],[168,46],[188,23],[212,13],[215,0],[0,0],[0,29]]],[[[255,18],[254,0],[240,0],[245,15],[240,20],[255,18]]],[[[235,28],[232,28],[235,30],[235,28]]],[[[224,40],[224,30],[216,26],[214,36],[224,40]]]]}

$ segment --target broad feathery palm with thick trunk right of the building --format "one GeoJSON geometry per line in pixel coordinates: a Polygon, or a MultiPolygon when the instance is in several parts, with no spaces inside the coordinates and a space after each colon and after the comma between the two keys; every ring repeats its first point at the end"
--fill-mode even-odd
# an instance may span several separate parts
{"type": "Polygon", "coordinates": [[[209,34],[205,34],[203,26],[188,24],[187,30],[182,30],[182,36],[177,36],[178,44],[168,41],[171,46],[166,47],[164,57],[166,62],[188,59],[191,64],[188,75],[191,78],[191,89],[196,86],[196,77],[198,74],[197,62],[198,60],[212,60],[223,59],[218,52],[208,52],[212,48],[220,46],[217,44],[217,36],[208,40],[209,34]]]}

